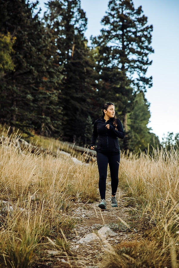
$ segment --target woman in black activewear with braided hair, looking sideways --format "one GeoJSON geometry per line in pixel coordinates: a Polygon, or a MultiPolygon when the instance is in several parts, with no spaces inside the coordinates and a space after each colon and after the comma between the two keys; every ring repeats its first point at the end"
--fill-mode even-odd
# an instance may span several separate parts
{"type": "Polygon", "coordinates": [[[124,129],[121,121],[115,118],[115,106],[112,102],[103,105],[103,115],[94,123],[90,149],[95,149],[96,140],[98,139],[96,158],[99,171],[99,192],[101,202],[98,207],[106,209],[106,178],[107,166],[109,163],[111,175],[111,206],[117,207],[116,191],[118,188],[118,170],[120,163],[120,147],[118,138],[124,139],[124,129]]]}

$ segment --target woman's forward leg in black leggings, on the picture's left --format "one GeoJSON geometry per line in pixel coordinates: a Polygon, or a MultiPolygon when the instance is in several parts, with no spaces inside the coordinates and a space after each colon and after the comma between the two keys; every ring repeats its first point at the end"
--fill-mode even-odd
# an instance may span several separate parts
{"type": "Polygon", "coordinates": [[[99,192],[100,192],[101,199],[105,199],[108,157],[107,155],[101,152],[97,152],[96,159],[97,159],[98,171],[99,171],[99,184],[98,184],[99,192]]]}

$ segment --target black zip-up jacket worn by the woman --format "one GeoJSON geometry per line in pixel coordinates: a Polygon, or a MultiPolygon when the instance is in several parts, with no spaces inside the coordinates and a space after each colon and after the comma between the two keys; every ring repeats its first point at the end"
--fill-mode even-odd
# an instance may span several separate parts
{"type": "Polygon", "coordinates": [[[94,123],[94,129],[92,133],[91,146],[96,144],[98,139],[96,152],[120,152],[118,138],[124,139],[124,129],[119,119],[116,119],[117,130],[113,124],[113,118],[110,118],[107,122],[104,117],[101,116],[94,123]],[[106,125],[109,124],[109,129],[106,125]]]}

